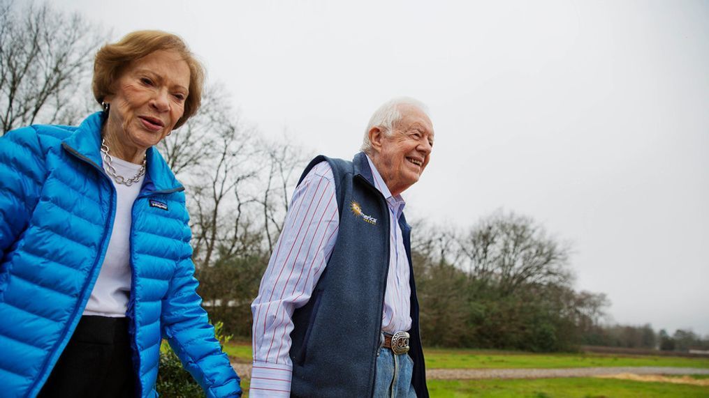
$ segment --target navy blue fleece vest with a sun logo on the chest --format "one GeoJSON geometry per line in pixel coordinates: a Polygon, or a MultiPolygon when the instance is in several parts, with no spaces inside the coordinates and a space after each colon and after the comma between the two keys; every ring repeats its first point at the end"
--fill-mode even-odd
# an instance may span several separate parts
{"type": "MultiPolygon", "coordinates": [[[[333,168],[340,229],[328,266],[311,299],[293,314],[293,397],[372,397],[381,312],[389,271],[389,209],[374,187],[367,156],[352,162],[318,156],[333,168]]],[[[300,184],[300,182],[298,182],[300,184]]],[[[411,272],[412,385],[428,397],[418,325],[418,299],[411,267],[411,227],[398,220],[411,272]]]]}

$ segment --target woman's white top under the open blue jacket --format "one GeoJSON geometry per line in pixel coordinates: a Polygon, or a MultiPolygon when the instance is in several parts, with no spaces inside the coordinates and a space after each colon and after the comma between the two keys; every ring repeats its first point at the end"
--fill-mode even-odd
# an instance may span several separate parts
{"type": "MultiPolygon", "coordinates": [[[[112,158],[116,174],[126,178],[133,177],[140,165],[112,158]]],[[[104,162],[104,170],[107,168],[104,162]]],[[[130,299],[130,225],[133,220],[132,210],[135,198],[140,194],[145,175],[140,181],[130,187],[118,184],[111,177],[116,187],[116,218],[113,221],[111,240],[108,241],[106,257],[101,264],[99,278],[96,279],[94,290],[91,291],[89,302],[84,308],[84,315],[101,315],[104,317],[125,317],[130,299]]]]}

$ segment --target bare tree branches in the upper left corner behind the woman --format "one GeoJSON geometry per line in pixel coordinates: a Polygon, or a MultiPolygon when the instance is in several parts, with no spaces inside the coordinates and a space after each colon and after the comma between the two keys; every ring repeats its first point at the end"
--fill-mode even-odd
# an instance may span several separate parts
{"type": "Polygon", "coordinates": [[[86,113],[91,62],[105,40],[102,30],[79,14],[67,16],[47,4],[20,8],[0,0],[3,134],[35,122],[78,122],[86,113]]]}

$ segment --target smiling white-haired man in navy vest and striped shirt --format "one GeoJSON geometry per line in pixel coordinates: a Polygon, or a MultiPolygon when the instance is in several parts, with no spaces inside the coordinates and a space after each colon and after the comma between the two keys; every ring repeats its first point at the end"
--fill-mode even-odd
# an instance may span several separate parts
{"type": "Polygon", "coordinates": [[[425,106],[397,98],[352,162],[308,165],[251,307],[250,397],[428,397],[401,192],[432,146],[425,106]]]}

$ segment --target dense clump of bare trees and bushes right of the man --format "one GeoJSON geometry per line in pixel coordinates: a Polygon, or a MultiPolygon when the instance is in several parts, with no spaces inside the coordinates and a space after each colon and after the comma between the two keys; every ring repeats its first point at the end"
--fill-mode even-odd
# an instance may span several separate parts
{"type": "Polygon", "coordinates": [[[574,350],[605,295],[571,287],[570,245],[532,218],[498,211],[469,229],[417,231],[413,252],[425,344],[574,350]]]}

